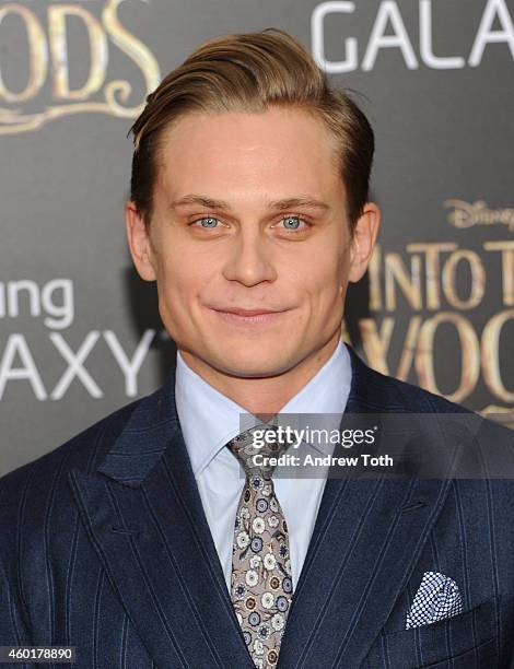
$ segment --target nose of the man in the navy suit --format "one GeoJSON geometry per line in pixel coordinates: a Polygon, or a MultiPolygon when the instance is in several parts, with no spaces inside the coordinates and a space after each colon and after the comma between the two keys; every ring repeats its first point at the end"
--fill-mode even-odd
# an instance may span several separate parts
{"type": "Polygon", "coordinates": [[[229,281],[238,281],[248,287],[262,281],[274,281],[277,270],[270,240],[259,230],[248,227],[240,231],[231,244],[223,275],[229,281]]]}

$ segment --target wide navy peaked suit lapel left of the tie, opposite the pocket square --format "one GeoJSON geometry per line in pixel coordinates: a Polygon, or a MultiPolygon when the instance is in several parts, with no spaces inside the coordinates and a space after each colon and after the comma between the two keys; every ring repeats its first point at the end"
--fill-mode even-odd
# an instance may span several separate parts
{"type": "Polygon", "coordinates": [[[114,591],[157,666],[250,668],[174,401],[141,400],[74,498],[114,591]]]}

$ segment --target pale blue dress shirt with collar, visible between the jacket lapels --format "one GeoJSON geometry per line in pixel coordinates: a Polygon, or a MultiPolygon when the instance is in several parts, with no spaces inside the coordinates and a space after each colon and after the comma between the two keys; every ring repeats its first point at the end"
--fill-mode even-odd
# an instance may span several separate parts
{"type": "MultiPolygon", "coordinates": [[[[280,413],[330,414],[327,416],[330,427],[338,430],[350,383],[350,355],[341,339],[330,359],[280,413]]],[[[234,523],[245,477],[237,458],[224,446],[240,434],[241,414],[246,418],[252,414],[205,382],[187,366],[179,352],[175,398],[192,473],[230,591],[234,523]]],[[[252,424],[259,422],[254,420],[252,424]]],[[[323,426],[327,426],[325,418],[323,426]]],[[[325,477],[273,477],[274,492],[288,524],[293,588],[302,571],[325,483],[325,477]]]]}

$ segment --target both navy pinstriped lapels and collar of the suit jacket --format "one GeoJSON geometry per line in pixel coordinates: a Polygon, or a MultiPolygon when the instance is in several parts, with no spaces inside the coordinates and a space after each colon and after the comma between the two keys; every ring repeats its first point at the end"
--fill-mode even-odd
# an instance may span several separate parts
{"type": "MultiPolygon", "coordinates": [[[[399,410],[398,384],[350,354],[347,413],[399,410]]],[[[171,374],[136,406],[96,471],[73,470],[70,484],[109,582],[156,664],[250,669],[174,389],[171,374]]],[[[428,410],[422,400],[417,409],[428,410]]],[[[327,481],[288,619],[281,669],[363,661],[448,486],[449,480],[327,481]]]]}

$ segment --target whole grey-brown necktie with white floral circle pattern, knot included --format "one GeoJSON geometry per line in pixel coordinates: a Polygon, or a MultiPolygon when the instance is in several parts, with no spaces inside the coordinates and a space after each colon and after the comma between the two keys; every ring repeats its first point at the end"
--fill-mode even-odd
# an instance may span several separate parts
{"type": "MultiPolygon", "coordinates": [[[[253,457],[279,456],[279,444],[254,445],[257,425],[227,443],[246,472],[234,528],[232,601],[254,664],[276,667],[292,600],[288,526],[274,494],[273,467],[256,467],[253,457]]],[[[260,436],[260,435],[259,435],[260,436]]],[[[285,445],[287,446],[287,445],[285,445]]]]}

